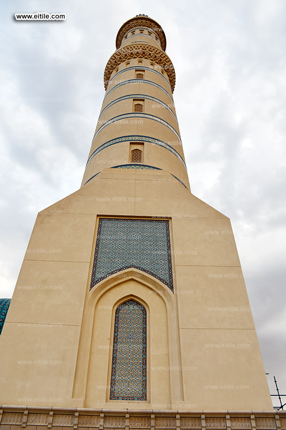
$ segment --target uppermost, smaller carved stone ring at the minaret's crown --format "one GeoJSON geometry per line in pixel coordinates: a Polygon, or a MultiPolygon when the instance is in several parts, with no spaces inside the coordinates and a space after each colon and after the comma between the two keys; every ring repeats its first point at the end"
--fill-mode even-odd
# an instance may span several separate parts
{"type": "Polygon", "coordinates": [[[130,20],[126,21],[122,27],[119,29],[119,32],[117,34],[116,38],[116,48],[118,49],[122,44],[122,39],[125,33],[127,31],[131,30],[132,28],[136,27],[147,27],[150,28],[150,30],[153,30],[154,33],[158,36],[161,42],[161,47],[165,51],[166,49],[166,37],[165,33],[163,32],[162,27],[153,19],[149,17],[135,17],[131,18],[130,20]]]}

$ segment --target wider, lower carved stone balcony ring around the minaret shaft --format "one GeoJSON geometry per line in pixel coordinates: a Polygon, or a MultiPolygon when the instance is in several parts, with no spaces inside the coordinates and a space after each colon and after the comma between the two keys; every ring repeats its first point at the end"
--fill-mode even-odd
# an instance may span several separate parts
{"type": "Polygon", "coordinates": [[[132,44],[125,48],[118,49],[108,60],[104,70],[104,88],[106,90],[109,78],[113,70],[115,70],[121,63],[133,58],[145,58],[154,61],[166,72],[171,90],[174,92],[176,75],[174,66],[164,51],[147,44],[132,44]]]}

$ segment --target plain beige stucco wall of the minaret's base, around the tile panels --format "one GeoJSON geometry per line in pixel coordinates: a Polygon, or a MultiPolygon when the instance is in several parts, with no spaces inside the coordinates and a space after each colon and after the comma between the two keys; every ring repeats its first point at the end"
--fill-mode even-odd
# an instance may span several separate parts
{"type": "MultiPolygon", "coordinates": [[[[64,399],[65,406],[130,405],[108,400],[108,387],[114,310],[120,300],[134,297],[148,310],[149,336],[148,400],[136,407],[271,407],[230,221],[178,181],[168,182],[169,176],[106,168],[102,177],[39,214],[28,249],[61,252],[25,255],[0,339],[4,350],[13,351],[13,360],[10,354],[1,358],[2,397],[7,393],[1,402],[25,404],[18,400],[22,390],[29,398],[45,392],[45,398],[64,399]],[[149,275],[128,271],[126,278],[111,276],[89,291],[98,217],[155,214],[170,220],[175,293],[149,275]],[[62,363],[18,364],[42,358],[62,363]],[[206,388],[226,384],[249,388],[206,388]]],[[[39,403],[52,402],[31,404],[39,403]]]]}

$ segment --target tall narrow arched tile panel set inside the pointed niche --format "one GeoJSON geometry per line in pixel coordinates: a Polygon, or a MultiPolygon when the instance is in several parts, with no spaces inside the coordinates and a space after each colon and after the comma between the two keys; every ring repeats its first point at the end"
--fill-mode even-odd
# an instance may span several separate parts
{"type": "Polygon", "coordinates": [[[147,400],[146,310],[135,300],[116,310],[110,399],[147,400]]]}

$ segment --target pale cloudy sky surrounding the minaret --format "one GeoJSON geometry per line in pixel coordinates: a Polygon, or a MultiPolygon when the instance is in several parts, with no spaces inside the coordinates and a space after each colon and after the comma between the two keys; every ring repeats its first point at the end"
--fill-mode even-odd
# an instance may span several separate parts
{"type": "MultiPolygon", "coordinates": [[[[0,297],[38,211],[80,186],[121,25],[166,34],[193,194],[231,218],[271,394],[286,394],[285,0],[1,2],[0,297]],[[17,22],[62,12],[63,22],[17,22]]],[[[286,402],[286,397],[284,398],[286,402]]]]}

